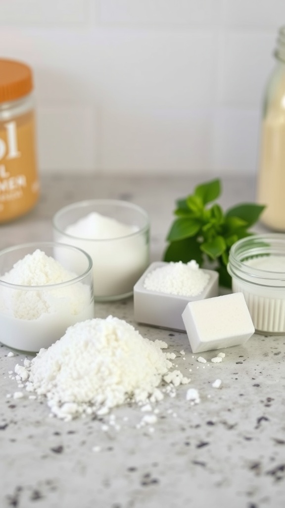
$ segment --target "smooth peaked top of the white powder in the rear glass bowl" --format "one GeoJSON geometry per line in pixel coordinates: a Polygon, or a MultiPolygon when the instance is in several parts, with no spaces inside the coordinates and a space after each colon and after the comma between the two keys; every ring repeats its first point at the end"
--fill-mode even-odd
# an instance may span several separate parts
{"type": "Polygon", "coordinates": [[[137,227],[128,226],[112,217],[96,212],[89,213],[65,229],[65,233],[69,235],[93,240],[120,238],[135,231],[137,231],[137,227]]]}

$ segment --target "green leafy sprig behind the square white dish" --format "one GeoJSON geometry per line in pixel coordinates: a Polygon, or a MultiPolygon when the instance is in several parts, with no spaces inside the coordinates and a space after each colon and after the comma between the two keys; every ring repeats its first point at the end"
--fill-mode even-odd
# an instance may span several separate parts
{"type": "Polygon", "coordinates": [[[220,179],[211,180],[176,201],[176,218],[166,237],[169,244],[163,260],[188,263],[194,259],[201,268],[217,270],[220,285],[231,288],[227,272],[230,247],[240,238],[254,234],[248,229],[258,221],[265,206],[241,203],[223,211],[218,203],[213,203],[220,197],[221,189],[220,179]]]}

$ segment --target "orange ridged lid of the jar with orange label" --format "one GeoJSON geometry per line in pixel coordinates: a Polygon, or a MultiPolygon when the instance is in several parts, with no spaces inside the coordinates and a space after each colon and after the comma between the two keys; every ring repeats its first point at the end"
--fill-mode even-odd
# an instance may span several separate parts
{"type": "Polygon", "coordinates": [[[0,59],[0,103],[20,99],[32,88],[29,66],[16,60],[0,59]]]}

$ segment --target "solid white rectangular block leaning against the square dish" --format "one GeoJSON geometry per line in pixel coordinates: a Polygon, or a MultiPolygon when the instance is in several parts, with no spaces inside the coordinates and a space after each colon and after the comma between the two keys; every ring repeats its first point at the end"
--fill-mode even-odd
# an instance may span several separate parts
{"type": "Polygon", "coordinates": [[[193,353],[244,344],[255,332],[242,293],[189,302],[182,319],[193,353]]]}

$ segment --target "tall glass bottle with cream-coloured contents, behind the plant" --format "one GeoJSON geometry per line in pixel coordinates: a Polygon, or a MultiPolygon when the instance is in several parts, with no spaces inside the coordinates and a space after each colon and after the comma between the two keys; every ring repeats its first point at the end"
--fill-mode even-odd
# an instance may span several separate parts
{"type": "Polygon", "coordinates": [[[285,231],[285,26],[279,29],[274,56],[262,111],[257,201],[266,205],[262,223],[285,231]]]}

